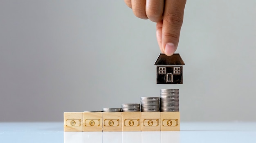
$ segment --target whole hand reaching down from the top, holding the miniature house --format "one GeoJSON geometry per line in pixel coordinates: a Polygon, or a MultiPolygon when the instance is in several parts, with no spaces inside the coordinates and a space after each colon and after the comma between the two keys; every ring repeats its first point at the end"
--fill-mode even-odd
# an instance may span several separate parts
{"type": "Polygon", "coordinates": [[[177,50],[186,0],[124,0],[134,15],[157,22],[159,48],[167,56],[177,50]]]}

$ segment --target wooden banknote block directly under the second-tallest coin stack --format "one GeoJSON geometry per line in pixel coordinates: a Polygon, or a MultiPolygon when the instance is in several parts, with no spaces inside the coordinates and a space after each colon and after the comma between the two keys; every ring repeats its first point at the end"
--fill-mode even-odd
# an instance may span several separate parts
{"type": "Polygon", "coordinates": [[[160,112],[141,112],[141,131],[160,131],[160,112]]]}

